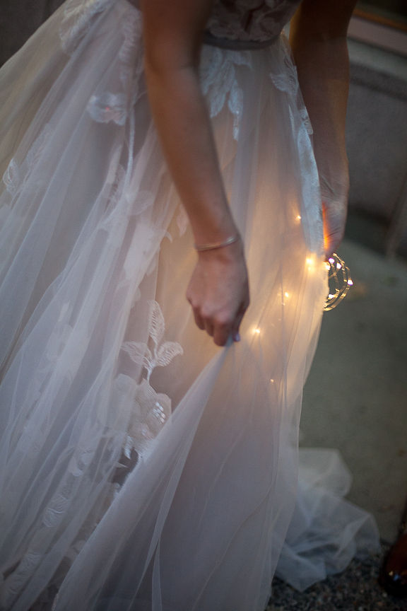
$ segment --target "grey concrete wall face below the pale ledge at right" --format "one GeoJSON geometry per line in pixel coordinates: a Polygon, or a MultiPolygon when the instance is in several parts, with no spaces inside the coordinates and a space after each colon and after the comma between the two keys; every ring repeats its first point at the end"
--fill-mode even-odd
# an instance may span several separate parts
{"type": "Polygon", "coordinates": [[[389,218],[407,175],[407,82],[353,64],[350,204],[389,218]]]}

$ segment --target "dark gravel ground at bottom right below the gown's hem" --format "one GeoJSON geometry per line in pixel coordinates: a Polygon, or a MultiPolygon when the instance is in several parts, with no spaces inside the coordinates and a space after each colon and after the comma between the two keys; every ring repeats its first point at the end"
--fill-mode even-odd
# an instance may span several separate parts
{"type": "Polygon", "coordinates": [[[279,579],[266,611],[407,611],[407,598],[387,594],[379,583],[379,569],[389,545],[365,561],[353,561],[346,571],[297,592],[279,579]]]}

